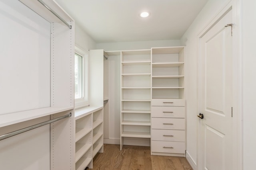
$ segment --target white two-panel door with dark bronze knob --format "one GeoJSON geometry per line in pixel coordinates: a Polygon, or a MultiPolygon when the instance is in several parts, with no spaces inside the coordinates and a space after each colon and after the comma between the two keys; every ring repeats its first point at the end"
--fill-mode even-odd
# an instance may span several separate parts
{"type": "Polygon", "coordinates": [[[200,167],[232,169],[232,10],[201,38],[200,167]]]}

